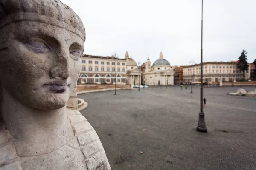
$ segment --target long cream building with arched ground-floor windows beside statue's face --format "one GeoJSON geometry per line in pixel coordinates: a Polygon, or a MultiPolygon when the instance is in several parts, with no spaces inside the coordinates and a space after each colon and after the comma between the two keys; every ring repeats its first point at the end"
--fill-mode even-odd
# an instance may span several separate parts
{"type": "Polygon", "coordinates": [[[83,55],[78,83],[126,84],[126,59],[83,55]]]}

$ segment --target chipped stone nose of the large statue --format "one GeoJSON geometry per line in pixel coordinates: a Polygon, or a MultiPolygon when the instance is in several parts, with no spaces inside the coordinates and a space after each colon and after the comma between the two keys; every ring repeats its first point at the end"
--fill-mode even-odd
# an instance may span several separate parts
{"type": "Polygon", "coordinates": [[[70,76],[69,57],[65,57],[64,55],[58,56],[50,74],[52,78],[67,79],[70,76]]]}

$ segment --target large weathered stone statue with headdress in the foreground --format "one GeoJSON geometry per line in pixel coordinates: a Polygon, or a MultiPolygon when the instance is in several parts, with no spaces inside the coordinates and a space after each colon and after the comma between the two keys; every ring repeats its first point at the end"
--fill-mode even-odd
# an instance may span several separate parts
{"type": "Polygon", "coordinates": [[[110,170],[75,96],[81,19],[58,0],[0,0],[0,170],[110,170]]]}

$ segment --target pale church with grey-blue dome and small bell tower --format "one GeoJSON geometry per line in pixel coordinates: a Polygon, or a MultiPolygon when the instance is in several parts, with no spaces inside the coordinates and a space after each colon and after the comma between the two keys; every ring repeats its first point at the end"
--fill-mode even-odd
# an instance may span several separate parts
{"type": "Polygon", "coordinates": [[[146,85],[173,85],[173,75],[173,69],[170,63],[163,58],[162,52],[160,53],[159,59],[152,66],[148,57],[145,63],[145,72],[143,73],[143,80],[146,85]]]}

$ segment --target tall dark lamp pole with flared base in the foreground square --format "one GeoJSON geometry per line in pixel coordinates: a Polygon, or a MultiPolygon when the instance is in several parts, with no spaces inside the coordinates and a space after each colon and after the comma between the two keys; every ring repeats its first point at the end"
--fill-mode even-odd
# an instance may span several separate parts
{"type": "Polygon", "coordinates": [[[203,111],[203,0],[202,0],[202,23],[201,23],[201,87],[200,87],[200,112],[198,126],[196,128],[198,132],[207,132],[204,111],[203,111]]]}

